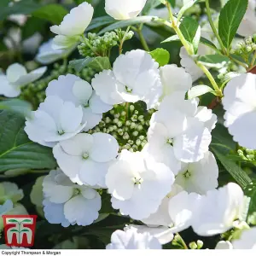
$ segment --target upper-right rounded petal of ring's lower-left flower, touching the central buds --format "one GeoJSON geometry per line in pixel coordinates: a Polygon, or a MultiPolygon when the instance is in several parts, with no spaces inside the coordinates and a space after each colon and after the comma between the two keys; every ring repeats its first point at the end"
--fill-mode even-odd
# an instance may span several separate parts
{"type": "Polygon", "coordinates": [[[96,132],[92,135],[93,147],[90,149],[90,158],[96,162],[108,162],[114,160],[119,151],[117,140],[102,132],[96,132]]]}

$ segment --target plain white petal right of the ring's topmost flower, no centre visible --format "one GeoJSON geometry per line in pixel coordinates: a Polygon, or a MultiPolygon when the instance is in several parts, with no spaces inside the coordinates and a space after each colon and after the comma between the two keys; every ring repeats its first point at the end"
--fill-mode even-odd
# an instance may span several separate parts
{"type": "Polygon", "coordinates": [[[160,67],[160,79],[163,84],[164,96],[181,90],[188,91],[192,87],[192,78],[183,67],[177,65],[166,65],[160,67]]]}

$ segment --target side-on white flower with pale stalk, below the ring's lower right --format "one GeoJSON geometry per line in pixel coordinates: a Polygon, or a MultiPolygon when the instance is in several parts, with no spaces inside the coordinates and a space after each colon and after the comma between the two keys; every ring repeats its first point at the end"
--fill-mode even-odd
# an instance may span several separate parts
{"type": "Polygon", "coordinates": [[[188,194],[177,185],[173,187],[175,189],[163,199],[157,212],[142,220],[149,226],[148,232],[152,236],[156,234],[162,244],[172,241],[171,234],[189,228],[196,218],[196,207],[201,200],[201,195],[188,194]]]}

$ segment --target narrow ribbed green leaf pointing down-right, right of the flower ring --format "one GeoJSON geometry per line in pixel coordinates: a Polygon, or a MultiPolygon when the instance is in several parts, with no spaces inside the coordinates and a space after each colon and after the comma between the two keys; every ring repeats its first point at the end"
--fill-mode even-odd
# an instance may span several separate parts
{"type": "Polygon", "coordinates": [[[252,183],[250,177],[247,176],[247,173],[244,172],[240,166],[236,165],[236,162],[230,160],[227,157],[227,149],[221,146],[212,145],[212,152],[224,166],[224,168],[230,172],[230,175],[235,178],[236,182],[241,186],[241,188],[245,188],[249,183],[252,183]]]}

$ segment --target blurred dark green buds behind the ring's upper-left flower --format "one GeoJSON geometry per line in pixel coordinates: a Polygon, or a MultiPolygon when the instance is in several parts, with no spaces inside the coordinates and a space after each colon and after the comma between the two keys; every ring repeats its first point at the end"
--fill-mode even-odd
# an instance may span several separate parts
{"type": "Polygon", "coordinates": [[[81,72],[78,73],[72,67],[67,66],[66,63],[62,65],[55,63],[53,70],[48,76],[26,85],[26,87],[22,89],[20,99],[31,102],[34,108],[38,108],[38,105],[41,102],[44,102],[45,89],[49,82],[58,79],[60,75],[66,75],[67,73],[75,74],[89,83],[95,75],[95,71],[90,67],[84,67],[81,72]]]}

